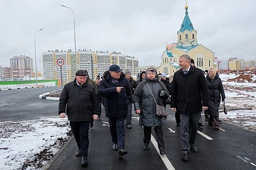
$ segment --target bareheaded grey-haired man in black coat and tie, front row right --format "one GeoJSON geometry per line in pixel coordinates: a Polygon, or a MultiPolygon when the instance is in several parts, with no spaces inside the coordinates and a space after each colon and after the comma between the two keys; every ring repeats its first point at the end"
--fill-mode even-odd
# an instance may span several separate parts
{"type": "Polygon", "coordinates": [[[183,161],[188,161],[188,153],[197,152],[196,137],[198,116],[202,110],[208,109],[208,86],[201,69],[190,65],[191,58],[187,54],[179,57],[180,69],[174,73],[171,88],[171,108],[180,113],[183,161]],[[202,94],[202,98],[201,98],[202,94]]]}

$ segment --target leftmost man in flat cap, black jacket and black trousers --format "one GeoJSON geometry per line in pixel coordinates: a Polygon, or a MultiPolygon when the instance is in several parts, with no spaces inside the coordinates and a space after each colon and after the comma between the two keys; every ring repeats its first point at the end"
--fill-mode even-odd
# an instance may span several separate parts
{"type": "Polygon", "coordinates": [[[93,117],[98,119],[98,99],[93,85],[87,83],[88,73],[78,70],[73,82],[64,85],[59,98],[59,117],[67,115],[72,133],[78,145],[76,156],[81,156],[81,166],[87,166],[89,125],[93,117]]]}

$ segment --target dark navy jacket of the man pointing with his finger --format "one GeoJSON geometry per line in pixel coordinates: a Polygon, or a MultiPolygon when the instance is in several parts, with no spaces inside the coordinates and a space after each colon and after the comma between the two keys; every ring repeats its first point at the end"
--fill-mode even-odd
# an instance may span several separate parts
{"type": "Polygon", "coordinates": [[[98,85],[99,94],[105,100],[105,113],[109,118],[121,118],[127,116],[127,96],[132,95],[131,87],[125,74],[122,73],[118,84],[113,83],[109,71],[103,75],[103,80],[98,85]],[[117,87],[123,87],[120,93],[117,87]]]}

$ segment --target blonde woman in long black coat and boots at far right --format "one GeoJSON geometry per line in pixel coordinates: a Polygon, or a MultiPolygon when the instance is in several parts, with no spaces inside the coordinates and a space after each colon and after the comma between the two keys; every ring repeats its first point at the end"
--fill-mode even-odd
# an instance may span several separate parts
{"type": "Polygon", "coordinates": [[[206,82],[209,88],[209,107],[207,111],[210,116],[210,119],[208,124],[209,126],[214,126],[214,128],[218,130],[218,107],[220,104],[220,95],[222,101],[224,101],[226,97],[221,79],[219,78],[215,68],[209,69],[208,74],[206,76],[206,82]]]}

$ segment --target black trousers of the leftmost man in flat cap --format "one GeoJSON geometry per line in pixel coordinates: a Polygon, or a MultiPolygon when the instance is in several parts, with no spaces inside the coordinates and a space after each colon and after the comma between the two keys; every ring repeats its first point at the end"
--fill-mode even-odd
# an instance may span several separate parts
{"type": "Polygon", "coordinates": [[[90,121],[70,121],[72,133],[76,139],[81,156],[88,155],[90,121]]]}

